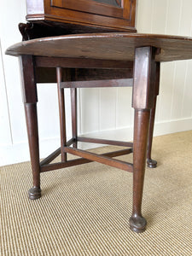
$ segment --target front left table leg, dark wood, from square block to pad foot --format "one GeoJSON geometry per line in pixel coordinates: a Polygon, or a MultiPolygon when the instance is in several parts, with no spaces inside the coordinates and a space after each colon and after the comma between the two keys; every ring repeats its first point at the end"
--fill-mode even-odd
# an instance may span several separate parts
{"type": "Polygon", "coordinates": [[[26,113],[26,127],[32,164],[33,186],[29,189],[29,198],[34,200],[41,197],[40,165],[38,146],[38,114],[37,114],[37,87],[34,75],[34,63],[31,55],[20,57],[22,73],[23,102],[26,113]]]}

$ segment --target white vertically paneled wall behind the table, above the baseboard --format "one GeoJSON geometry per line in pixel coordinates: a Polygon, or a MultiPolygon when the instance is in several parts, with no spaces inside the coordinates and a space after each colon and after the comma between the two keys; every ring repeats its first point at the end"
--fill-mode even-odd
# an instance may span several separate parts
{"type": "MultiPolygon", "coordinates": [[[[192,36],[191,0],[137,0],[137,32],[192,36]]],[[[29,160],[17,58],[4,55],[20,42],[19,22],[25,22],[26,0],[9,0],[0,9],[0,166],[29,160]]],[[[155,135],[192,129],[192,61],[161,65],[155,135]]],[[[38,84],[41,157],[59,147],[55,84],[38,84]],[[46,94],[46,98],[44,97],[46,94]]],[[[69,90],[67,130],[71,134],[69,90]]],[[[93,137],[131,139],[131,88],[79,90],[79,133],[93,137]]],[[[89,145],[90,147],[91,145],[89,145]]]]}

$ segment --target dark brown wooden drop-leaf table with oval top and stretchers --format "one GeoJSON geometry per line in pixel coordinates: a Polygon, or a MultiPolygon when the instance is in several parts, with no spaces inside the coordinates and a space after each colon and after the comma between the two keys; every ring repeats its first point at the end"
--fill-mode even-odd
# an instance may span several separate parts
{"type": "MultiPolygon", "coordinates": [[[[131,230],[143,232],[142,215],[145,161],[151,159],[156,96],[159,93],[160,62],[192,59],[192,38],[130,32],[87,33],[36,38],[15,44],[6,54],[20,57],[23,102],[32,162],[33,186],[30,199],[41,196],[40,173],[98,161],[133,172],[131,230]],[[103,72],[105,71],[105,72],[103,72]],[[37,83],[57,82],[61,126],[61,148],[39,161],[37,83]],[[79,137],[77,131],[77,88],[132,86],[135,110],[133,143],[79,137]],[[73,137],[67,141],[64,89],[71,89],[73,137]],[[94,154],[78,148],[78,142],[125,146],[107,154],[94,154]],[[133,153],[133,163],[114,156],[133,153]],[[51,163],[61,154],[61,162],[51,163]],[[79,156],[67,160],[67,154],[79,156]]],[[[45,95],[46,96],[46,95],[45,95]]]]}

